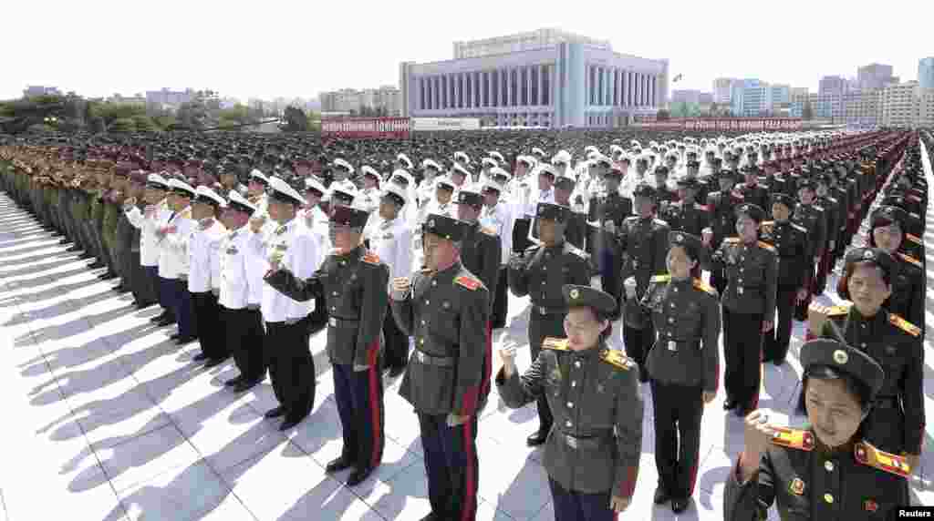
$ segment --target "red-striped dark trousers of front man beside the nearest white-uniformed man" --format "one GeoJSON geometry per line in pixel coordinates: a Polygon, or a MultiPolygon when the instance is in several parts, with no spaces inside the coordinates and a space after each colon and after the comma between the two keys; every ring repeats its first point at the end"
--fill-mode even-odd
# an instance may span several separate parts
{"type": "Polygon", "coordinates": [[[358,470],[371,470],[383,461],[386,445],[386,410],[383,402],[383,367],[378,358],[363,371],[334,363],[334,402],[341,418],[344,447],[341,458],[358,470]]]}

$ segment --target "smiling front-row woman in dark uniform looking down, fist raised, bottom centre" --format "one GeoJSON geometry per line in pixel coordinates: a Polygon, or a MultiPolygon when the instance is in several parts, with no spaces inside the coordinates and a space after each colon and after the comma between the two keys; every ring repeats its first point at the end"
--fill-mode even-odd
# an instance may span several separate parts
{"type": "Polygon", "coordinates": [[[639,368],[607,348],[616,298],[565,284],[567,338],[545,338],[521,377],[516,345],[500,350],[496,376],[503,402],[517,408],[545,395],[555,423],[545,445],[545,471],[559,521],[616,518],[629,507],[642,453],[639,368]]]}

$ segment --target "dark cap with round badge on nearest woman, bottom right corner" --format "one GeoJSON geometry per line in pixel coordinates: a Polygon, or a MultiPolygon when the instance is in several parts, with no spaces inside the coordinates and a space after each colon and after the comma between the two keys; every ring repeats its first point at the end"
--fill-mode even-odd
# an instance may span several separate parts
{"type": "Polygon", "coordinates": [[[814,368],[831,367],[861,381],[870,390],[870,400],[882,389],[883,368],[870,355],[836,340],[819,338],[805,342],[800,350],[800,362],[807,376],[814,368]]]}

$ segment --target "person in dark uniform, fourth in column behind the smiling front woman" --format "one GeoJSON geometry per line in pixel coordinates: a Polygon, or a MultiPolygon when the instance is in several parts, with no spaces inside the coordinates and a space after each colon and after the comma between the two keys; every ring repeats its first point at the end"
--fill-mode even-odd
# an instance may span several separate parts
{"type": "Polygon", "coordinates": [[[772,221],[762,223],[760,230],[762,241],[774,247],[778,254],[775,294],[778,320],[774,329],[765,334],[762,343],[762,362],[775,365],[785,363],[785,355],[791,343],[791,320],[795,313],[795,303],[807,292],[804,273],[811,264],[808,257],[808,230],[789,219],[794,210],[794,198],[782,193],[773,194],[772,221]]]}

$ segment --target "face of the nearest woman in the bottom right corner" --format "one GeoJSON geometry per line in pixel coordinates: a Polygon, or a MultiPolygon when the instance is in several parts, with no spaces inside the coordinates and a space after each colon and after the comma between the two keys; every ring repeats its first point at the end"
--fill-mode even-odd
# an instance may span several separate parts
{"type": "Polygon", "coordinates": [[[859,400],[840,378],[809,377],[805,386],[804,406],[817,439],[830,447],[847,444],[866,418],[859,400]]]}

